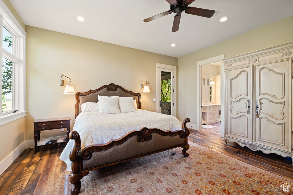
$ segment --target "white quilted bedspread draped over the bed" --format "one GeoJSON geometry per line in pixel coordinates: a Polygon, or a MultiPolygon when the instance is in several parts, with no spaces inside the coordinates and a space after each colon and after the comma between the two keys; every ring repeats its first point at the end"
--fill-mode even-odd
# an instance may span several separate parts
{"type": "MultiPolygon", "coordinates": [[[[86,146],[105,144],[111,139],[119,139],[128,132],[140,130],[142,127],[158,128],[163,131],[182,129],[179,120],[174,116],[138,110],[120,114],[80,113],[75,119],[73,130],[81,137],[82,151],[86,146]]],[[[69,153],[73,146],[74,140],[69,140],[60,156],[67,164],[67,171],[71,171],[69,153]]]]}

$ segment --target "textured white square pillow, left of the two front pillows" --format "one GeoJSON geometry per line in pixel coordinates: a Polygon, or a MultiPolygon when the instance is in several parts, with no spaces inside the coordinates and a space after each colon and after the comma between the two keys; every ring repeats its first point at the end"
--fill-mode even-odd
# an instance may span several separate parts
{"type": "Polygon", "coordinates": [[[118,96],[98,96],[99,112],[106,114],[120,113],[118,98],[118,96]]]}

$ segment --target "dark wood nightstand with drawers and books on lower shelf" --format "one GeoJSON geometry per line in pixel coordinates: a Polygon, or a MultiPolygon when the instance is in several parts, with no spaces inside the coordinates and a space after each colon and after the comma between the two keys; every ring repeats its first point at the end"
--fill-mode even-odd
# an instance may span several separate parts
{"type": "Polygon", "coordinates": [[[38,119],[34,122],[34,138],[35,138],[35,154],[37,153],[37,142],[40,141],[41,131],[52,130],[52,129],[67,129],[67,138],[64,142],[57,143],[57,140],[50,140],[52,144],[46,144],[44,146],[54,145],[54,144],[62,144],[67,143],[69,141],[69,133],[70,133],[70,117],[65,118],[48,118],[48,119],[38,119]]]}

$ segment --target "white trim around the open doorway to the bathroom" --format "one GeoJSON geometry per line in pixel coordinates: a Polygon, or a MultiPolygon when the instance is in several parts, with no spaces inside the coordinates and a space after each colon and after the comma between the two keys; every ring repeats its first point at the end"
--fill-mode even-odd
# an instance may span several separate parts
{"type": "MultiPolygon", "coordinates": [[[[215,63],[215,62],[221,62],[221,108],[225,108],[225,101],[224,101],[224,63],[222,62],[222,59],[224,59],[224,54],[219,55],[219,56],[215,56],[212,58],[208,58],[202,61],[198,61],[196,63],[196,95],[197,95],[197,100],[196,100],[196,107],[197,107],[197,126],[199,127],[199,131],[202,130],[202,111],[201,111],[201,101],[202,101],[202,95],[201,95],[201,91],[202,91],[202,84],[201,84],[201,80],[202,80],[202,71],[201,71],[201,67],[204,65],[208,65],[211,63],[215,63]]],[[[224,109],[221,109],[221,116],[224,116],[224,109]]],[[[224,117],[222,117],[224,119],[224,117]]],[[[225,120],[221,120],[221,137],[224,136],[224,126],[225,126],[225,120]]]]}

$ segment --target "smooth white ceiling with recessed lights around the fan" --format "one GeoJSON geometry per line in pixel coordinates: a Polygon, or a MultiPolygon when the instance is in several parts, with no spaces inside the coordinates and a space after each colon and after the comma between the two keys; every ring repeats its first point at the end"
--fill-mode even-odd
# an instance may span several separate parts
{"type": "Polygon", "coordinates": [[[214,18],[182,13],[171,32],[165,0],[10,0],[26,25],[168,56],[180,57],[293,15],[292,0],[196,0],[190,6],[219,10],[214,18]],[[84,17],[84,22],[78,21],[84,17]],[[220,18],[228,17],[226,22],[220,18]],[[171,47],[171,44],[176,44],[171,47]]]}

